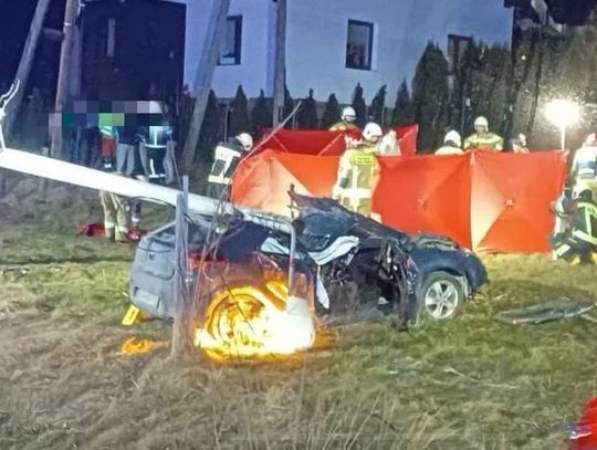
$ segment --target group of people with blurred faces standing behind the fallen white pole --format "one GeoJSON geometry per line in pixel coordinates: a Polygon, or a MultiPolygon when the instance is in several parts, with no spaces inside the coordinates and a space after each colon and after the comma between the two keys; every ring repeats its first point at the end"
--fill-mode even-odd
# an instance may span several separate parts
{"type": "MultiPolygon", "coordinates": [[[[104,121],[101,118],[102,169],[145,182],[169,185],[176,176],[172,128],[159,102],[148,102],[146,119],[140,116],[124,115],[124,123],[114,121],[111,114],[104,121]]],[[[100,200],[106,238],[116,242],[138,239],[140,201],[123,200],[107,191],[100,192],[100,200]]]]}

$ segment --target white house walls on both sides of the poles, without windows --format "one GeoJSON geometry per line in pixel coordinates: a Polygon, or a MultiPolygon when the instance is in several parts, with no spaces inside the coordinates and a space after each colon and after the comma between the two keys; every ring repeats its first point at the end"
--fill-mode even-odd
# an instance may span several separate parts
{"type": "MultiPolygon", "coordinates": [[[[192,87],[213,0],[170,1],[187,4],[185,83],[192,87]]],[[[237,14],[243,17],[241,64],[218,66],[213,90],[219,97],[231,97],[242,84],[250,97],[262,88],[271,95],[275,3],[232,0],[229,15],[237,14]]],[[[412,79],[427,42],[446,50],[449,33],[507,43],[512,11],[503,0],[287,0],[289,90],[293,97],[304,97],[313,88],[318,101],[335,93],[341,103],[349,103],[357,83],[367,101],[386,84],[390,104],[402,79],[412,79]],[[345,67],[350,19],[375,24],[370,71],[345,67]]]]}

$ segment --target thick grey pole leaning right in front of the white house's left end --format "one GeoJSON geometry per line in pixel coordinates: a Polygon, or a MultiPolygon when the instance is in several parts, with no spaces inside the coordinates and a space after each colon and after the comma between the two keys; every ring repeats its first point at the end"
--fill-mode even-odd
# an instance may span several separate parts
{"type": "Polygon", "coordinates": [[[189,125],[189,133],[185,144],[184,165],[190,171],[195,155],[197,154],[197,144],[199,143],[199,133],[201,124],[206,115],[206,107],[211,88],[211,79],[218,63],[220,53],[220,44],[224,34],[226,18],[230,8],[230,0],[216,0],[209,18],[207,38],[201,52],[201,59],[197,67],[195,76],[195,86],[192,94],[195,95],[195,107],[192,111],[192,119],[189,125]]]}

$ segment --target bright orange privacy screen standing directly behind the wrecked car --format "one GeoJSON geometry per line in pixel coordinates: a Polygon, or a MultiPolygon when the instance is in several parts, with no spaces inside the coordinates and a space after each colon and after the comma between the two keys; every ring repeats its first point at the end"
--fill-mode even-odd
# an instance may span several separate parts
{"type": "MultiPolygon", "coordinates": [[[[329,196],[338,157],[268,150],[245,160],[233,179],[233,201],[287,216],[286,191],[329,196]]],[[[448,236],[493,252],[549,250],[549,206],[562,191],[562,151],[384,157],[374,210],[409,232],[448,236]]]]}

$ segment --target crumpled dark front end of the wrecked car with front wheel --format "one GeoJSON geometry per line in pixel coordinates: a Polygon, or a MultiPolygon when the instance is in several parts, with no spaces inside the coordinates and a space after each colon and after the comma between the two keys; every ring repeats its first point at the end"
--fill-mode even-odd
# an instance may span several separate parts
{"type": "MultiPolygon", "coordinates": [[[[293,190],[290,196],[292,207],[298,211],[296,228],[302,231],[300,241],[307,251],[325,248],[343,236],[359,239],[362,247],[354,254],[339,258],[324,268],[324,284],[328,287],[349,281],[367,285],[359,280],[371,261],[370,258],[364,258],[364,253],[379,253],[379,261],[383,262],[383,255],[387,253],[390,243],[409,254],[418,269],[417,314],[425,312],[433,318],[450,317],[462,302],[488,281],[480,259],[449,238],[430,233],[407,234],[348,211],[329,198],[301,196],[293,190]],[[363,245],[367,247],[367,251],[363,245]]],[[[381,294],[387,299],[384,289],[381,294]]],[[[346,293],[342,292],[341,295],[346,296],[346,293]]]]}

